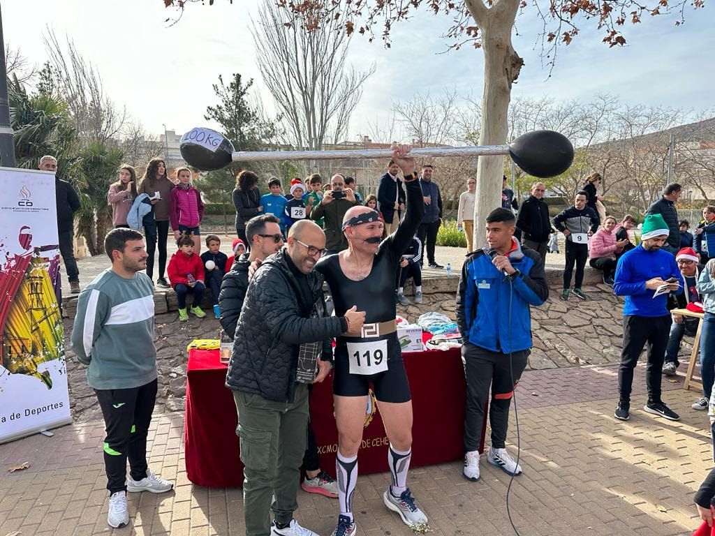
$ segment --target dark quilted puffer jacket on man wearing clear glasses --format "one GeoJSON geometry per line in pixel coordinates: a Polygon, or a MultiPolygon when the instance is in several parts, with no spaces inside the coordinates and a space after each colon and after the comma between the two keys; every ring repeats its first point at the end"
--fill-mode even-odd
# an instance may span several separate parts
{"type": "Polygon", "coordinates": [[[265,259],[248,285],[226,387],[292,402],[300,344],[322,341],[322,359],[332,359],[330,338],[345,332],[347,322],[327,316],[322,281],[318,272],[298,272],[285,248],[265,259]],[[310,303],[301,298],[300,277],[307,282],[310,303]],[[309,318],[313,307],[319,318],[309,318]]]}

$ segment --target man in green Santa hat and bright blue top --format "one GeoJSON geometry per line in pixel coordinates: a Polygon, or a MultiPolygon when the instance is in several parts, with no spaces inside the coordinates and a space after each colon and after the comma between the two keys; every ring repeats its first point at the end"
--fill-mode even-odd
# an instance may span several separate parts
{"type": "Polygon", "coordinates": [[[623,305],[623,350],[618,367],[618,406],[613,415],[623,421],[631,418],[633,369],[646,342],[648,402],[643,409],[666,419],[680,420],[661,400],[661,368],[671,327],[668,293],[683,292],[683,277],[675,257],[661,249],[669,233],[661,214],[648,214],[643,222],[641,244],[624,253],[616,267],[613,292],[625,296],[626,303],[623,305]],[[665,284],[668,284],[666,292],[655,296],[656,289],[665,284]]]}

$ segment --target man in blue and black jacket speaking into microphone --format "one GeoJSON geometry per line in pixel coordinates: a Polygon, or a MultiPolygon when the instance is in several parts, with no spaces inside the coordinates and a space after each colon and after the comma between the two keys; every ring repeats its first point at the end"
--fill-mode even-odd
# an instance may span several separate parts
{"type": "Polygon", "coordinates": [[[541,305],[548,297],[541,255],[513,237],[513,212],[494,209],[486,221],[486,244],[464,262],[456,307],[467,380],[463,474],[468,480],[479,480],[480,438],[490,387],[487,461],[510,475],[521,473],[505,448],[509,405],[531,349],[529,306],[541,305]]]}

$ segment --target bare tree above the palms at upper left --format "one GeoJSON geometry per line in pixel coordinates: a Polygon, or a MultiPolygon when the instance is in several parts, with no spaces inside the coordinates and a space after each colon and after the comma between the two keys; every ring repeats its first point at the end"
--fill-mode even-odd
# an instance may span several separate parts
{"type": "Polygon", "coordinates": [[[69,36],[63,46],[48,27],[42,39],[56,88],[67,102],[79,138],[84,144],[114,143],[129,118],[126,106],[120,108],[109,99],[99,71],[69,36]]]}

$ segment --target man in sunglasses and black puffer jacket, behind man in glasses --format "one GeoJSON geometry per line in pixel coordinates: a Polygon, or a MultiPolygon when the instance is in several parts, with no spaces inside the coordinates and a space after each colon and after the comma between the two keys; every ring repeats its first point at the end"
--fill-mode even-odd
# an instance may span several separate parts
{"type": "Polygon", "coordinates": [[[234,259],[230,272],[224,276],[219,292],[221,327],[233,339],[248,289],[248,268],[253,261],[262,261],[283,247],[280,222],[273,214],[251,218],[246,223],[246,239],[250,253],[234,259]]]}

